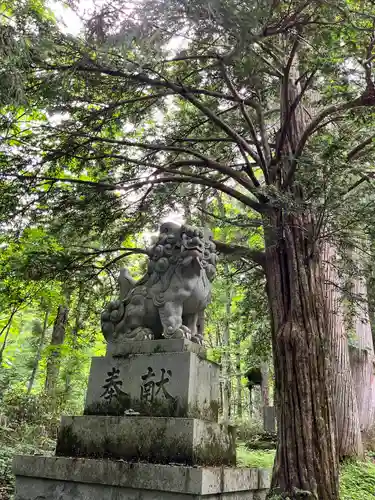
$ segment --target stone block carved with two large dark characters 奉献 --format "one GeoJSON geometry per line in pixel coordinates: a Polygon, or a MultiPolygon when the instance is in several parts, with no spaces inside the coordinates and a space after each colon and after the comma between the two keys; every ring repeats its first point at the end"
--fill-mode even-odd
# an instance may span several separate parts
{"type": "Polygon", "coordinates": [[[124,415],[132,409],[217,421],[219,372],[216,363],[189,351],[93,358],[85,414],[124,415]]]}

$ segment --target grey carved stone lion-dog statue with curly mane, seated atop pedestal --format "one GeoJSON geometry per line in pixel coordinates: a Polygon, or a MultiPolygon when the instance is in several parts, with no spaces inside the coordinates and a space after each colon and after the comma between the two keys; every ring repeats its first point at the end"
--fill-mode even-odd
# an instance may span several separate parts
{"type": "Polygon", "coordinates": [[[120,272],[120,299],[101,316],[107,342],[160,338],[203,341],[203,313],[216,273],[212,235],[191,226],[165,223],[148,250],[147,274],[135,282],[120,272]]]}

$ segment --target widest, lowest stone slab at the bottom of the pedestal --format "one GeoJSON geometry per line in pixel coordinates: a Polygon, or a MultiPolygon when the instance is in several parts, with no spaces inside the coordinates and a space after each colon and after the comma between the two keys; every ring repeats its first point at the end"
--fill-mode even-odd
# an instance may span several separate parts
{"type": "Polygon", "coordinates": [[[265,500],[266,469],[18,456],[15,500],[265,500]]]}

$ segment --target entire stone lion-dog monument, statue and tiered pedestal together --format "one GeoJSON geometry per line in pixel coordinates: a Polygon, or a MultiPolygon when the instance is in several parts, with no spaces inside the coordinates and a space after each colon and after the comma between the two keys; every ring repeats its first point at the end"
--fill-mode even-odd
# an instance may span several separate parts
{"type": "Polygon", "coordinates": [[[15,500],[266,497],[268,470],[235,467],[220,367],[202,345],[215,245],[168,223],[149,256],[102,313],[107,353],[92,360],[84,415],[62,417],[54,457],[15,457],[15,500]]]}

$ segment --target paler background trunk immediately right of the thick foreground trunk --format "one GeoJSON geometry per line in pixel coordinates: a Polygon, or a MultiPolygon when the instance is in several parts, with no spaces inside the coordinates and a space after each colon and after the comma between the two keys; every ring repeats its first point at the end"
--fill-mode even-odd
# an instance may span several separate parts
{"type": "Polygon", "coordinates": [[[349,344],[345,327],[340,280],[335,266],[336,251],[326,244],[323,252],[325,295],[329,328],[333,382],[333,404],[339,458],[363,455],[357,395],[350,366],[349,344]]]}

